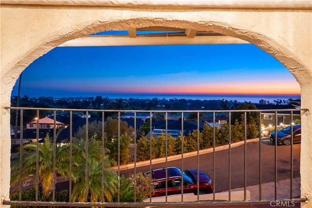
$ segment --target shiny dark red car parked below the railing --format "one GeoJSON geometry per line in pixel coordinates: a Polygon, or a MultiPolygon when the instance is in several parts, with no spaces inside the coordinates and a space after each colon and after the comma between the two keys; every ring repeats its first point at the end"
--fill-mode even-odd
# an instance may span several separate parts
{"type": "MultiPolygon", "coordinates": [[[[166,170],[167,175],[167,194],[194,193],[197,194],[197,170],[184,170],[176,167],[161,168],[152,170],[152,184],[154,185],[154,193],[152,197],[166,195],[166,170]],[[183,174],[183,182],[182,182],[183,174]]],[[[147,175],[150,171],[147,172],[147,175]]],[[[199,194],[213,192],[213,183],[211,178],[205,172],[199,170],[199,194]]]]}

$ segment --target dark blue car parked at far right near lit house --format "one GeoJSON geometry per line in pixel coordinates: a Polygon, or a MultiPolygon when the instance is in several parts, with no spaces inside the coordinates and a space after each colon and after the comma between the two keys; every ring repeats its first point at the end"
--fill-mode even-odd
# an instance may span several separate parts
{"type": "MultiPolygon", "coordinates": [[[[275,142],[275,132],[270,134],[270,140],[275,142]]],[[[278,145],[290,145],[292,143],[299,143],[301,142],[301,124],[293,125],[292,129],[291,126],[288,126],[280,131],[277,131],[277,144],[278,145]],[[292,130],[292,132],[291,132],[292,130]],[[293,136],[292,136],[293,135],[293,136]],[[291,141],[292,137],[292,141],[291,141]]]]}

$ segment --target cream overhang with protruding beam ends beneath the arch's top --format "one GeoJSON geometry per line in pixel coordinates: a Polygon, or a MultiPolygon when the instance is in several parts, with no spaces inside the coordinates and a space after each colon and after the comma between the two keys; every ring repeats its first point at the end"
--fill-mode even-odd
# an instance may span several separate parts
{"type": "Polygon", "coordinates": [[[145,27],[127,31],[105,31],[67,41],[60,46],[246,44],[239,38],[194,29],[145,27]]]}

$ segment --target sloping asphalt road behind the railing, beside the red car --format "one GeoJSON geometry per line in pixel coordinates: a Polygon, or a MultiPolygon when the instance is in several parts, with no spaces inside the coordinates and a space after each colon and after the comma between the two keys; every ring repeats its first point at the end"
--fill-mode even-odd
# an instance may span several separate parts
{"type": "MultiPolygon", "coordinates": [[[[293,145],[293,177],[300,176],[300,144],[293,145]]],[[[231,189],[245,186],[244,160],[245,145],[231,148],[231,189]]],[[[261,183],[275,180],[275,147],[267,138],[261,141],[261,183]]],[[[291,146],[277,146],[277,180],[291,177],[291,146]]],[[[259,142],[249,142],[246,145],[246,186],[259,184],[259,142]]],[[[182,160],[168,161],[167,167],[182,167],[182,160]]],[[[166,163],[152,164],[152,169],[166,167],[166,163]]],[[[196,169],[197,156],[183,159],[183,169],[196,169]]],[[[229,150],[215,151],[215,176],[213,168],[213,153],[199,156],[199,169],[207,172],[214,179],[215,192],[229,189],[229,150]]],[[[137,167],[137,172],[150,170],[149,166],[137,167]]],[[[120,170],[120,175],[128,177],[134,169],[120,170]]]]}

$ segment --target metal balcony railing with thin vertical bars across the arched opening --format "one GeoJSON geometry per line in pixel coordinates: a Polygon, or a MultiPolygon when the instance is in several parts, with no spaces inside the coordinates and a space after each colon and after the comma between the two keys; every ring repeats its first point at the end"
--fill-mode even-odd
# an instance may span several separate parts
{"type": "MultiPolygon", "coordinates": [[[[49,111],[49,112],[53,112],[53,117],[54,117],[54,124],[51,130],[53,130],[53,144],[54,144],[54,150],[53,150],[53,184],[55,184],[55,181],[57,179],[57,174],[56,174],[56,163],[57,163],[57,158],[56,158],[56,147],[57,147],[57,136],[58,136],[58,132],[57,132],[57,114],[58,112],[68,112],[69,113],[69,126],[67,128],[69,128],[69,155],[70,155],[70,159],[69,159],[69,173],[68,173],[68,201],[65,202],[60,202],[56,200],[56,186],[53,186],[52,189],[52,199],[50,202],[45,202],[45,201],[40,201],[39,200],[39,191],[40,191],[40,175],[39,175],[39,119],[37,119],[37,131],[36,131],[36,172],[35,172],[35,183],[34,183],[34,188],[36,190],[36,197],[34,201],[23,201],[22,200],[22,190],[24,189],[23,187],[23,183],[25,181],[23,181],[23,177],[22,177],[22,171],[23,171],[23,131],[22,128],[20,129],[20,183],[19,183],[19,200],[16,201],[3,201],[2,204],[3,205],[15,205],[15,206],[49,206],[49,207],[170,207],[170,206],[181,206],[181,207],[192,207],[192,206],[215,206],[215,205],[254,205],[254,204],[270,204],[272,202],[291,202],[291,203],[300,203],[300,202],[305,202],[307,199],[305,198],[295,198],[293,196],[293,142],[290,145],[290,151],[291,151],[291,158],[290,158],[290,175],[289,175],[289,179],[290,179],[290,197],[285,199],[285,198],[278,198],[278,189],[277,189],[277,183],[278,183],[278,148],[277,148],[277,115],[278,112],[290,112],[290,117],[291,120],[293,120],[293,113],[294,112],[302,112],[302,111],[307,111],[304,109],[283,109],[283,110],[199,110],[199,111],[180,111],[180,110],[95,110],[95,109],[50,109],[50,108],[18,108],[18,107],[8,107],[7,109],[11,109],[11,110],[15,110],[17,112],[19,112],[20,114],[20,126],[22,127],[24,125],[24,113],[27,111],[36,111],[36,116],[39,118],[40,112],[41,111],[49,111]],[[165,132],[168,131],[168,114],[169,113],[181,113],[181,120],[178,122],[181,122],[181,137],[184,138],[183,136],[187,136],[185,135],[184,132],[184,115],[188,114],[188,113],[196,113],[197,115],[197,121],[196,121],[196,125],[197,125],[197,130],[200,129],[200,114],[202,113],[210,113],[213,115],[213,138],[212,139],[212,180],[213,180],[213,193],[212,194],[212,199],[211,200],[201,200],[201,196],[199,194],[197,194],[197,198],[194,201],[186,201],[185,200],[185,196],[183,194],[181,194],[181,200],[179,202],[171,202],[168,198],[168,194],[167,191],[168,189],[166,188],[166,195],[163,198],[163,201],[161,202],[156,202],[154,200],[152,200],[152,198],[147,199],[144,202],[138,202],[137,200],[137,191],[136,191],[136,186],[137,184],[134,184],[134,197],[133,197],[133,201],[132,202],[121,202],[120,201],[120,181],[118,181],[118,187],[117,187],[117,200],[116,202],[105,202],[104,199],[104,190],[102,189],[101,191],[101,200],[98,202],[90,202],[90,195],[89,190],[93,189],[92,187],[89,186],[88,184],[88,171],[89,171],[89,167],[88,167],[88,148],[85,148],[85,196],[84,196],[84,201],[83,202],[74,202],[72,200],[72,194],[73,194],[73,179],[72,177],[70,177],[73,174],[73,138],[74,138],[74,134],[73,134],[73,113],[77,113],[77,112],[84,112],[86,114],[85,116],[85,146],[88,147],[88,141],[90,138],[88,138],[88,129],[89,129],[89,116],[90,113],[99,113],[101,116],[99,117],[99,120],[105,121],[105,117],[107,114],[112,114],[112,113],[116,113],[115,115],[117,115],[117,120],[118,120],[118,130],[117,130],[117,139],[118,139],[118,149],[117,149],[117,154],[118,154],[118,159],[117,159],[117,167],[115,167],[114,170],[116,170],[117,172],[117,176],[118,176],[118,180],[121,177],[121,167],[122,165],[120,164],[120,136],[121,136],[121,130],[120,130],[120,123],[121,123],[121,115],[124,112],[134,112],[134,129],[137,130],[138,125],[137,124],[137,113],[149,113],[149,117],[150,117],[150,132],[152,132],[153,130],[153,120],[152,120],[152,115],[153,113],[163,113],[164,114],[164,122],[165,122],[165,132]],[[247,143],[248,143],[248,138],[247,138],[247,132],[248,132],[248,113],[258,113],[258,120],[256,121],[258,123],[258,127],[257,127],[257,131],[259,132],[258,135],[258,139],[257,143],[258,143],[258,151],[259,151],[259,155],[258,158],[255,160],[258,163],[258,186],[259,186],[259,192],[258,192],[258,198],[257,199],[249,199],[247,197],[247,179],[248,179],[248,172],[247,172],[247,158],[248,158],[248,152],[247,152],[247,143]],[[243,189],[243,199],[242,200],[233,200],[231,198],[231,191],[233,192],[233,181],[231,180],[231,178],[233,177],[233,173],[232,170],[235,166],[235,164],[233,164],[233,139],[232,138],[232,128],[228,128],[228,138],[227,138],[227,144],[225,144],[225,146],[227,146],[227,150],[228,150],[228,161],[224,161],[224,163],[228,163],[227,167],[228,167],[228,200],[218,200],[216,197],[216,186],[218,186],[218,184],[215,183],[216,180],[216,129],[217,124],[215,122],[215,117],[216,117],[216,113],[225,113],[228,116],[228,122],[226,125],[228,125],[229,127],[231,127],[233,125],[231,119],[233,117],[233,113],[242,113],[243,114],[243,123],[244,123],[244,138],[241,142],[243,142],[243,156],[241,158],[241,161],[243,161],[243,175],[241,177],[243,177],[243,187],[241,187],[243,189]],[[275,115],[275,140],[274,140],[274,197],[270,198],[270,199],[266,199],[262,197],[262,184],[263,184],[263,178],[262,178],[262,174],[263,174],[263,167],[262,167],[262,155],[261,155],[261,151],[262,151],[262,138],[263,136],[261,135],[261,123],[262,123],[262,113],[272,113],[275,115]]],[[[291,124],[292,125],[292,124],[291,124]]],[[[196,130],[196,129],[195,129],[196,130]]],[[[104,126],[104,122],[102,122],[102,126],[101,126],[101,139],[102,139],[102,147],[101,147],[101,151],[102,151],[102,161],[101,161],[101,167],[102,167],[102,171],[101,171],[101,184],[102,187],[104,187],[104,180],[105,180],[105,172],[104,172],[104,154],[105,154],[105,148],[104,147],[104,137],[105,135],[105,126],[104,126]]],[[[200,167],[205,166],[204,164],[201,164],[201,159],[199,157],[199,155],[201,154],[201,150],[200,150],[200,135],[199,135],[199,131],[197,131],[197,150],[195,151],[195,157],[196,157],[196,161],[194,162],[194,167],[195,169],[197,169],[197,174],[198,170],[200,167]]],[[[166,156],[165,158],[163,158],[163,167],[168,167],[170,165],[169,163],[169,158],[170,156],[168,156],[168,134],[165,134],[166,136],[166,156]]],[[[141,162],[137,161],[137,154],[138,154],[138,150],[137,150],[137,131],[134,132],[134,144],[135,144],[135,151],[134,151],[134,162],[132,163],[132,169],[131,171],[134,173],[135,177],[136,174],[138,172],[138,164],[140,164],[141,162]]],[[[153,163],[153,158],[152,158],[152,133],[150,133],[149,135],[150,138],[150,160],[148,163],[149,168],[146,169],[146,171],[151,171],[153,169],[153,166],[155,165],[153,163]]],[[[291,136],[291,138],[293,138],[293,136],[291,136]]],[[[183,139],[181,142],[181,154],[177,156],[177,158],[179,158],[178,160],[180,160],[181,162],[181,170],[183,171],[185,169],[184,167],[184,160],[187,157],[186,156],[186,152],[184,152],[184,147],[183,147],[183,139]]],[[[147,164],[145,162],[145,164],[147,164]]],[[[130,166],[129,166],[130,167],[130,166]]],[[[152,172],[152,171],[151,171],[152,172]]],[[[199,178],[199,175],[197,175],[199,178]]],[[[182,176],[183,177],[183,176],[182,176]]],[[[136,179],[136,178],[135,178],[136,179]]],[[[182,178],[183,180],[183,178],[182,178]]],[[[166,178],[166,182],[167,182],[167,178],[166,178]]],[[[198,182],[197,182],[198,185],[198,182]]],[[[198,188],[199,189],[199,188],[198,188]]],[[[152,189],[151,189],[152,190],[152,189]]],[[[199,192],[199,190],[198,190],[199,192]]],[[[182,189],[182,193],[183,193],[183,189],[182,189]]]]}

